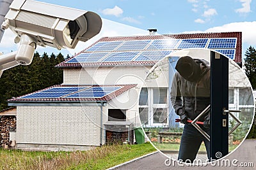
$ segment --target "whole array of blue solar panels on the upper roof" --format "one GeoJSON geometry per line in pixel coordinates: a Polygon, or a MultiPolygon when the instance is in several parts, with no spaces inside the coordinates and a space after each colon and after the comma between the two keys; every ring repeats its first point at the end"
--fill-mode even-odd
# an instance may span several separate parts
{"type": "Polygon", "coordinates": [[[183,48],[211,48],[234,59],[236,43],[237,38],[99,41],[67,63],[161,60],[173,50],[183,48]]]}

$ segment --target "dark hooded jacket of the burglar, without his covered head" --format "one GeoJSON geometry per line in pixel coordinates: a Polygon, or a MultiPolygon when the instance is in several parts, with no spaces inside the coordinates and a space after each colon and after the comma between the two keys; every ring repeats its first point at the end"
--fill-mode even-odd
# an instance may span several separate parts
{"type": "MultiPolygon", "coordinates": [[[[182,109],[188,118],[194,120],[211,103],[211,73],[207,61],[194,59],[200,64],[202,74],[198,81],[188,81],[178,72],[175,73],[170,92],[171,102],[175,112],[182,109]]],[[[204,122],[204,117],[199,121],[204,122]]]]}

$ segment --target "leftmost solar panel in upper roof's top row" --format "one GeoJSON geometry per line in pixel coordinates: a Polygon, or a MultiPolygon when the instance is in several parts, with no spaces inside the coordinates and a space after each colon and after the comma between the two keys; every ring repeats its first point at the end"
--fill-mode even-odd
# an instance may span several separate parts
{"type": "Polygon", "coordinates": [[[95,45],[93,45],[90,48],[88,48],[86,50],[86,52],[113,51],[121,43],[124,43],[124,41],[104,41],[104,42],[98,42],[95,45]]]}

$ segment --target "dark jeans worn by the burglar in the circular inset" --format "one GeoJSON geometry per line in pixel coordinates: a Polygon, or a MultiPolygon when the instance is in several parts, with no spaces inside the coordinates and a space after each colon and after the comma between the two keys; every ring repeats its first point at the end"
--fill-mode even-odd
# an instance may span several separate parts
{"type": "MultiPolygon", "coordinates": [[[[210,129],[208,129],[205,132],[207,132],[207,134],[210,134],[210,129]]],[[[208,141],[193,125],[186,124],[184,126],[184,130],[183,130],[181,141],[180,141],[180,150],[179,150],[178,160],[182,160],[183,162],[193,163],[202,141],[204,141],[205,148],[207,151],[207,157],[209,159],[210,158],[210,141],[208,141]]]]}

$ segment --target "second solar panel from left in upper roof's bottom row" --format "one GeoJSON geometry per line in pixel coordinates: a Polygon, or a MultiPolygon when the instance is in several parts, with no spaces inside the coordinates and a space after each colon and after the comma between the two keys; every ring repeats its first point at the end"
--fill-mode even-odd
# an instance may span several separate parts
{"type": "Polygon", "coordinates": [[[112,52],[104,62],[120,62],[120,61],[131,61],[139,52],[112,52]]]}

